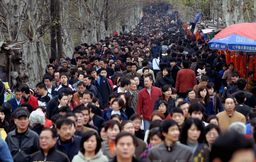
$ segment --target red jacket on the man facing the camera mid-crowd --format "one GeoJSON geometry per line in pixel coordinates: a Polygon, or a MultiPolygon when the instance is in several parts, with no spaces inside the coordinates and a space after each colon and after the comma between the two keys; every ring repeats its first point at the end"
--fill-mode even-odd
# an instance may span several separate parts
{"type": "Polygon", "coordinates": [[[138,95],[137,113],[143,115],[143,120],[150,120],[154,103],[160,95],[162,95],[160,88],[154,86],[151,87],[150,94],[146,88],[140,90],[138,95]]]}

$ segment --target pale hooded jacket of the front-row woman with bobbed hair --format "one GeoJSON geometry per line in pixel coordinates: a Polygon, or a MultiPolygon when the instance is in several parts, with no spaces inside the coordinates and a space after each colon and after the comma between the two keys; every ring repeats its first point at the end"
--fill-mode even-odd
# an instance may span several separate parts
{"type": "Polygon", "coordinates": [[[92,159],[87,160],[81,151],[78,152],[76,156],[74,156],[72,162],[108,162],[107,156],[103,155],[102,150],[99,150],[92,159]]]}

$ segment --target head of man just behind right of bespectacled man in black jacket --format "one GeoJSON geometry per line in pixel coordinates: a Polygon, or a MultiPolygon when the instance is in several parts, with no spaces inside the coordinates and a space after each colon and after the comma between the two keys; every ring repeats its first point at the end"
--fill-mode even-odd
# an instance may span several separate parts
{"type": "Polygon", "coordinates": [[[75,122],[71,119],[61,118],[57,120],[56,127],[61,141],[67,141],[72,138],[74,125],[75,122]]]}

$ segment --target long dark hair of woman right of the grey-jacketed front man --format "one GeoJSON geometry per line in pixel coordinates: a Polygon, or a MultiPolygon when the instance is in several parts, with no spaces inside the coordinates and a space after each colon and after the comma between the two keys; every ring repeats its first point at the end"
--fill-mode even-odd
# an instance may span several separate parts
{"type": "Polygon", "coordinates": [[[184,145],[187,145],[188,130],[189,130],[190,127],[192,127],[192,124],[195,124],[195,126],[198,128],[198,130],[201,131],[200,136],[198,138],[198,142],[199,143],[204,142],[205,133],[204,133],[203,123],[199,119],[189,118],[189,119],[186,119],[186,121],[183,124],[182,130],[181,130],[180,143],[182,143],[184,145]]]}

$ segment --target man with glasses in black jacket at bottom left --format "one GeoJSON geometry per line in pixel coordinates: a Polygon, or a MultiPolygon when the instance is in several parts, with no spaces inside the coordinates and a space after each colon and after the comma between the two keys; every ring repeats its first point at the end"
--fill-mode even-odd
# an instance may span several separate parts
{"type": "Polygon", "coordinates": [[[51,128],[43,128],[39,137],[41,150],[35,152],[29,162],[70,162],[66,154],[55,149],[54,145],[57,141],[57,134],[51,128]]]}

